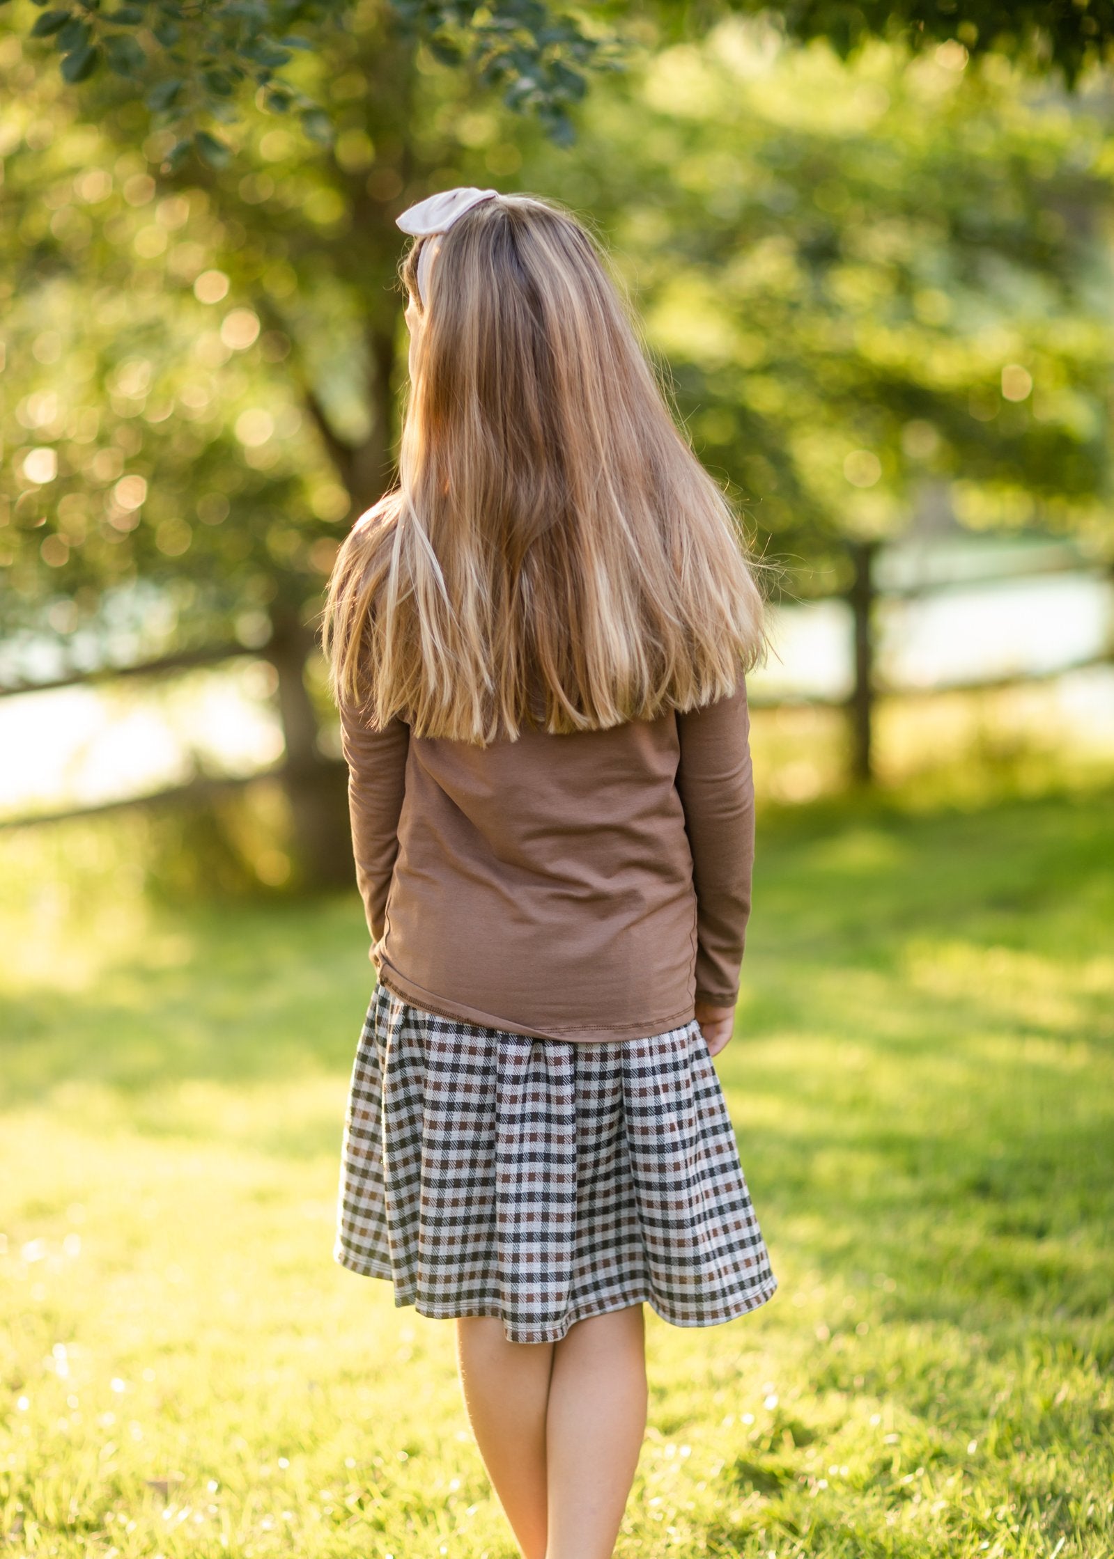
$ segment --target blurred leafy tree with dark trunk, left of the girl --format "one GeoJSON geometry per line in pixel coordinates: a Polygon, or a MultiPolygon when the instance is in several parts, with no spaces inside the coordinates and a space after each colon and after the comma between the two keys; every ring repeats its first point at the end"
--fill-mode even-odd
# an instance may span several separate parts
{"type": "Polygon", "coordinates": [[[144,134],[139,104],[90,83],[94,128],[12,36],[0,69],[22,120],[0,226],[5,627],[53,622],[81,649],[122,603],[144,624],[156,602],[148,652],[265,641],[303,864],[346,879],[343,772],[304,672],[335,541],[390,472],[393,217],[454,178],[446,72],[371,6],[312,61],[328,150],[257,112],[236,168],[158,182],[170,137],[144,134]]]}

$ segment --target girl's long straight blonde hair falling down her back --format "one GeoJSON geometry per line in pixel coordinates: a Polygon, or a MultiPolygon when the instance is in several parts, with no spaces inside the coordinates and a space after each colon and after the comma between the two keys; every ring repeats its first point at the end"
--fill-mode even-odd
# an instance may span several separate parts
{"type": "Polygon", "coordinates": [[[487,745],[729,694],[765,649],[761,594],[584,228],[499,196],[418,239],[403,279],[421,329],[399,485],[329,580],[337,702],[487,745]]]}

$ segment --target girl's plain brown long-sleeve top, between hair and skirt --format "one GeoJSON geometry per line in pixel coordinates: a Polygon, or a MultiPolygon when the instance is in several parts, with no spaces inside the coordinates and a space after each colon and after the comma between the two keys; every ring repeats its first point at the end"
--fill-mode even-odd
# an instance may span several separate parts
{"type": "Polygon", "coordinates": [[[685,714],[488,747],[340,720],[370,956],[395,995],[585,1041],[733,1006],[754,861],[741,678],[685,714]]]}

